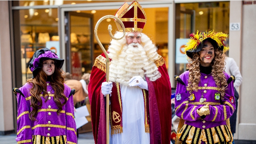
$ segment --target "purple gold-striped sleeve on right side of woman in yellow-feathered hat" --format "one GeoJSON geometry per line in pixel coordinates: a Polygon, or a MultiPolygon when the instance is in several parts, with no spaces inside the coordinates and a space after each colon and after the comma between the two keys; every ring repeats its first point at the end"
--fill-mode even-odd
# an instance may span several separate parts
{"type": "MultiPolygon", "coordinates": [[[[229,76],[226,74],[226,77],[229,76]]],[[[211,106],[209,105],[210,114],[204,120],[206,121],[224,121],[232,116],[235,111],[236,103],[234,97],[234,84],[230,82],[225,90],[224,100],[222,104],[211,106]]]]}

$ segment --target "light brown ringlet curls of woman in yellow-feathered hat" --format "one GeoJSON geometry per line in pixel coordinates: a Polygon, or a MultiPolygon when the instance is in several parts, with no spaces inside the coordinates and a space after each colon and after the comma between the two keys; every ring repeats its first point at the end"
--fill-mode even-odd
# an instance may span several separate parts
{"type": "MultiPolygon", "coordinates": [[[[212,66],[212,77],[220,88],[219,93],[221,94],[221,99],[224,100],[225,90],[227,86],[227,80],[223,73],[225,70],[225,62],[223,60],[222,51],[218,48],[214,48],[215,57],[211,62],[212,66]]],[[[192,94],[193,91],[198,91],[198,83],[200,82],[200,54],[199,52],[193,53],[193,59],[188,60],[189,63],[189,79],[188,79],[188,90],[192,94]]]]}

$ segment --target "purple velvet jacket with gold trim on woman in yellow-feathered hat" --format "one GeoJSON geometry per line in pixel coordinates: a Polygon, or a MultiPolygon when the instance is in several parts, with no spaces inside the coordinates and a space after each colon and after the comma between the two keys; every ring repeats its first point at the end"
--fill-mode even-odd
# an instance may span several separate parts
{"type": "MultiPolygon", "coordinates": [[[[184,72],[180,75],[181,80],[188,85],[189,71],[184,72]]],[[[224,72],[226,79],[230,76],[224,72]]],[[[177,83],[176,94],[175,94],[175,111],[176,115],[185,120],[185,124],[207,129],[220,125],[226,125],[226,119],[229,118],[236,106],[234,100],[234,86],[233,81],[230,82],[226,88],[224,100],[221,98],[215,99],[215,94],[218,92],[218,87],[211,74],[201,73],[201,84],[198,84],[198,91],[193,92],[195,99],[190,100],[190,93],[186,90],[186,86],[177,83]],[[209,82],[208,82],[209,81],[209,82]],[[208,84],[207,84],[208,83],[208,84]],[[207,84],[207,86],[205,86],[207,84]],[[206,98],[206,101],[203,103],[199,102],[201,95],[203,93],[203,98],[206,98]],[[181,99],[177,98],[177,95],[181,96],[181,99]],[[233,98],[233,100],[232,100],[233,98]],[[197,109],[199,110],[202,106],[209,103],[210,114],[207,115],[204,119],[201,119],[197,114],[197,109]]],[[[178,96],[179,97],[179,96],[178,96]]]]}

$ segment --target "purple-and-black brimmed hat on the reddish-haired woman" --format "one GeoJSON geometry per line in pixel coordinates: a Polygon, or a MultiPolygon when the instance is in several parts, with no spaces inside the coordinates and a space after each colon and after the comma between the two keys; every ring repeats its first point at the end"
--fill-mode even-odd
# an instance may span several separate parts
{"type": "Polygon", "coordinates": [[[32,78],[34,78],[38,74],[39,70],[42,68],[42,62],[48,59],[56,61],[55,65],[57,68],[61,69],[61,67],[63,66],[64,59],[58,58],[58,55],[55,52],[51,51],[48,48],[37,50],[34,53],[31,62],[29,63],[29,69],[33,73],[32,78]]]}

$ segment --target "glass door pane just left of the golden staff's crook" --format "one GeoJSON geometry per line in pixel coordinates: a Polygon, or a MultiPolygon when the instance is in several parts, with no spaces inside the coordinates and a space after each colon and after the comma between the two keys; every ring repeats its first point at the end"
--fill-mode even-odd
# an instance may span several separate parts
{"type": "Polygon", "coordinates": [[[72,79],[81,80],[93,66],[93,15],[65,12],[66,72],[72,79]]]}

